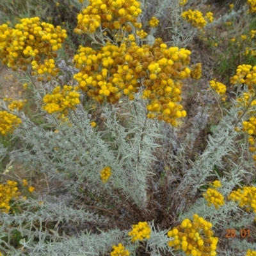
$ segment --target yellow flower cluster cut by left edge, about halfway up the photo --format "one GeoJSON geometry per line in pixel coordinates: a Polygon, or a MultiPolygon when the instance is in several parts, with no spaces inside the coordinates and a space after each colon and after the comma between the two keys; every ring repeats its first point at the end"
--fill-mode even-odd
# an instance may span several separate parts
{"type": "Polygon", "coordinates": [[[7,111],[0,111],[0,132],[2,135],[7,132],[12,133],[19,124],[21,124],[21,120],[18,116],[7,111]]]}

